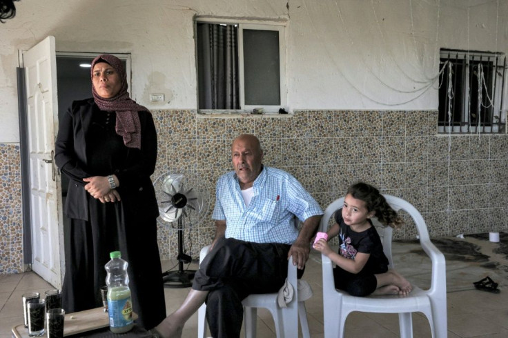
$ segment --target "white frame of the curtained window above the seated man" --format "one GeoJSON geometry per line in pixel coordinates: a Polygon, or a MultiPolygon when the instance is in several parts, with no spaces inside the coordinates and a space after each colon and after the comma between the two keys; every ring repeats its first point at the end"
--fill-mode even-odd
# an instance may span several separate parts
{"type": "MultiPolygon", "coordinates": [[[[286,21],[265,20],[239,20],[216,17],[195,17],[194,27],[197,23],[213,23],[238,26],[238,86],[240,94],[240,109],[199,109],[199,84],[196,86],[197,112],[202,114],[235,114],[251,113],[254,108],[262,108],[263,114],[278,114],[280,108],[286,108],[287,82],[286,82],[286,21]],[[244,30],[273,30],[279,32],[279,78],[280,78],[280,105],[246,105],[245,104],[245,78],[244,78],[244,30]]],[[[197,33],[195,32],[195,37],[197,33]]],[[[197,70],[197,39],[195,39],[196,81],[199,81],[197,70]]]]}

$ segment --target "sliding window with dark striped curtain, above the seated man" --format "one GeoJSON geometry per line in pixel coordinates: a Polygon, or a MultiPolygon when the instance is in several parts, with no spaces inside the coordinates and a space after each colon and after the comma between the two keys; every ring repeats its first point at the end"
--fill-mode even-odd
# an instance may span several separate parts
{"type": "Polygon", "coordinates": [[[286,106],[284,26],[196,22],[198,108],[278,112],[286,106]]]}

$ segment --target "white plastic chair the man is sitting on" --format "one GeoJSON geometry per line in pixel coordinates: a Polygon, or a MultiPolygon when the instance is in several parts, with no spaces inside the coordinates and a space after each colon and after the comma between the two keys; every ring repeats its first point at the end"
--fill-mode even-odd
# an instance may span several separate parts
{"type": "MultiPolygon", "coordinates": [[[[208,253],[210,246],[205,246],[199,253],[199,263],[208,253]]],[[[275,322],[277,338],[298,337],[298,317],[302,326],[304,338],[310,338],[309,324],[304,301],[298,299],[296,266],[293,265],[293,257],[288,261],[288,282],[293,286],[293,300],[287,304],[287,308],[280,308],[277,304],[277,293],[264,293],[249,295],[242,301],[244,306],[244,333],[246,338],[256,337],[257,308],[268,309],[275,322]]],[[[197,337],[206,338],[206,304],[197,310],[197,337]]]]}

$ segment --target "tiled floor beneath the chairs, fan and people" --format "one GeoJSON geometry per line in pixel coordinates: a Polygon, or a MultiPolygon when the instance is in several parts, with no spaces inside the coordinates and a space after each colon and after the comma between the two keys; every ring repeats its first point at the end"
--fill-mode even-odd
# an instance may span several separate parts
{"type": "MultiPolygon", "coordinates": [[[[444,239],[441,243],[449,247],[457,247],[460,239],[444,239]]],[[[447,255],[447,306],[448,306],[448,337],[508,337],[508,264],[506,255],[496,255],[493,250],[500,243],[489,243],[481,239],[467,239],[476,244],[481,252],[496,260],[493,264],[478,263],[474,259],[464,259],[447,255]],[[489,275],[500,283],[500,294],[476,290],[473,281],[489,275]]],[[[409,243],[393,244],[395,264],[403,275],[419,286],[428,282],[422,278],[421,264],[414,264],[418,252],[409,243]]],[[[446,250],[446,249],[445,249],[446,250]]],[[[469,255],[469,252],[467,252],[469,255]]],[[[421,259],[421,258],[419,258],[421,259]]],[[[173,262],[164,261],[163,268],[173,266],[173,262]]],[[[190,268],[193,268],[191,266],[190,268]]],[[[195,266],[194,266],[195,268],[195,266]]],[[[311,337],[323,337],[322,324],[322,292],[320,255],[313,251],[307,265],[304,279],[311,284],[314,295],[306,301],[311,337]]],[[[21,311],[21,294],[28,291],[43,292],[52,288],[46,281],[33,272],[21,275],[0,275],[0,338],[10,337],[10,328],[23,321],[21,311]]],[[[182,303],[188,289],[166,288],[166,308],[172,312],[182,303]]],[[[257,337],[275,337],[271,315],[266,310],[258,310],[257,337]]],[[[421,314],[413,315],[414,337],[431,337],[427,319],[421,314]]],[[[195,338],[197,335],[197,314],[193,315],[184,329],[184,338],[195,338]]],[[[399,337],[397,315],[378,315],[353,312],[346,321],[346,337],[399,337]]]]}

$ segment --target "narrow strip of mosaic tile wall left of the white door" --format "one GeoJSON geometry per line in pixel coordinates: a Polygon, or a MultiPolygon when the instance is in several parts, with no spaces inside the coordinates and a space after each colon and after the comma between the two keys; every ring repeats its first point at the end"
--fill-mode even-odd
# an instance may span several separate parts
{"type": "Polygon", "coordinates": [[[19,145],[0,143],[0,275],[23,270],[19,145]]]}

